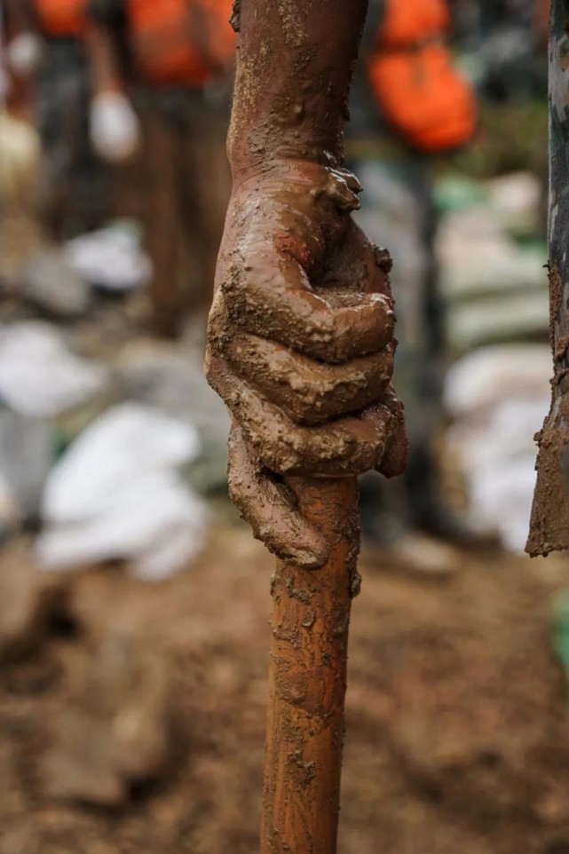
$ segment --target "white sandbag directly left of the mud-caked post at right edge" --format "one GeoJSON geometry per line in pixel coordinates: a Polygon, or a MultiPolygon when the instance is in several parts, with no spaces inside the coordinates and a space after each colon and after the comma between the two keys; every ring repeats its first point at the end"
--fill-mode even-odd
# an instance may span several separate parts
{"type": "Polygon", "coordinates": [[[523,551],[535,486],[533,436],[549,409],[547,345],[496,346],[471,353],[448,373],[447,442],[464,472],[470,517],[492,525],[505,547],[523,551]]]}

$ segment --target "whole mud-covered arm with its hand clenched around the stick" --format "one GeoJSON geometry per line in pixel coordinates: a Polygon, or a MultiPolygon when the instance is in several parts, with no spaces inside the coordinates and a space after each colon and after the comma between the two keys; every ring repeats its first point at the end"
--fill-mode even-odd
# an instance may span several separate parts
{"type": "Polygon", "coordinates": [[[236,15],[233,195],[206,369],[233,415],[233,501],[270,550],[307,568],[332,543],[288,476],[392,476],[407,451],[389,257],[352,220],[361,188],[342,162],[366,7],[241,0],[236,15]]]}

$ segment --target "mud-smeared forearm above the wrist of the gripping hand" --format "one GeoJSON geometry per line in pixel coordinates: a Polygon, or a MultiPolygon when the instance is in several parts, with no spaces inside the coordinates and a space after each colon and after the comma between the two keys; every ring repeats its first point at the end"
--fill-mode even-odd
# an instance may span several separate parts
{"type": "Polygon", "coordinates": [[[233,175],[276,158],[341,162],[367,0],[241,0],[233,175]]]}

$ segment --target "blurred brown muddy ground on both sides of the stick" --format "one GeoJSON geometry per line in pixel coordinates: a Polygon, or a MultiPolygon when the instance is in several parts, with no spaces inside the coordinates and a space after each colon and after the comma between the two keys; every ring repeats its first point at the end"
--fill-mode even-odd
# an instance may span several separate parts
{"type": "MultiPolygon", "coordinates": [[[[569,852],[566,559],[361,565],[340,852],[569,852]]],[[[159,586],[111,566],[38,589],[26,544],[4,552],[0,854],[257,850],[271,567],[226,519],[159,586]]]]}

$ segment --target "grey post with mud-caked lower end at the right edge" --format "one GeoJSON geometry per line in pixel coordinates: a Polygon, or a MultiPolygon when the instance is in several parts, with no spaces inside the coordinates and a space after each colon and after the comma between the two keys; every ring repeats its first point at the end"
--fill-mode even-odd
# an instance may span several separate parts
{"type": "Polygon", "coordinates": [[[549,337],[551,407],[538,434],[537,486],[526,550],[569,549],[569,2],[549,29],[549,337]]]}

